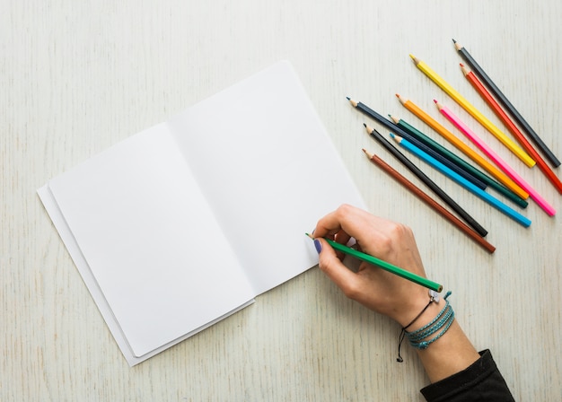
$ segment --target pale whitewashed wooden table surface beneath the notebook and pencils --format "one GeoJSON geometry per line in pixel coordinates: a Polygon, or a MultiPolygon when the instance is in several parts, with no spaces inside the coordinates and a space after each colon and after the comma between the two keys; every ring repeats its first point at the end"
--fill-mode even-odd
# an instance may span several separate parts
{"type": "Polygon", "coordinates": [[[488,254],[366,160],[362,148],[417,182],[363,123],[387,130],[346,100],[445,144],[395,93],[453,130],[433,104],[443,101],[559,210],[562,196],[540,170],[408,55],[503,127],[461,74],[458,40],[562,157],[561,15],[555,0],[3,1],[0,400],[423,400],[414,351],[396,363],[400,328],[347,300],[318,268],[129,368],[37,197],[48,179],[280,59],[293,63],[370,211],[413,228],[427,274],[452,291],[462,328],[491,349],[514,397],[562,399],[560,217],[531,202],[525,229],[412,158],[487,228],[497,248],[488,254]]]}

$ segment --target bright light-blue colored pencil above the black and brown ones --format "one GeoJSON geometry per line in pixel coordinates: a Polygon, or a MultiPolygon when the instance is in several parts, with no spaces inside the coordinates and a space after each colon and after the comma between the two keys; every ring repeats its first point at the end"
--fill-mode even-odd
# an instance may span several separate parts
{"type": "Polygon", "coordinates": [[[416,145],[409,143],[408,140],[406,140],[406,139],[404,139],[404,138],[402,138],[398,135],[391,134],[391,137],[394,138],[394,140],[398,144],[400,144],[400,146],[402,148],[406,149],[410,153],[414,153],[418,158],[420,158],[421,160],[423,160],[424,162],[428,163],[433,168],[435,168],[435,170],[441,171],[445,176],[447,176],[450,179],[456,181],[463,188],[468,189],[472,194],[474,194],[475,196],[483,199],[484,201],[487,202],[487,204],[492,205],[493,207],[495,207],[501,213],[509,216],[516,223],[520,223],[524,227],[529,227],[531,225],[531,220],[529,218],[527,218],[527,217],[523,216],[522,214],[519,214],[518,212],[514,211],[514,209],[505,205],[500,200],[498,200],[496,197],[490,196],[486,191],[482,191],[482,189],[480,189],[480,188],[476,187],[475,185],[473,185],[472,183],[470,183],[469,180],[464,179],[461,175],[459,175],[456,172],[454,172],[453,170],[449,169],[448,167],[443,165],[443,163],[441,163],[441,162],[437,161],[435,158],[433,158],[431,155],[428,155],[427,153],[425,153],[422,150],[420,150],[419,148],[417,148],[416,145]]]}

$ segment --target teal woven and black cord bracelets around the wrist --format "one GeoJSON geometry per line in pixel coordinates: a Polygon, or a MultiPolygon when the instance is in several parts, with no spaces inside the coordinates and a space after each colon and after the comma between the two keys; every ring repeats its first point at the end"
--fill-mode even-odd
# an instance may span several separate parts
{"type": "Polygon", "coordinates": [[[412,332],[408,332],[407,329],[412,324],[414,324],[414,322],[416,322],[417,319],[421,317],[421,315],[427,310],[427,308],[431,305],[431,303],[439,301],[439,295],[437,293],[432,291],[429,292],[429,301],[427,302],[426,307],[424,307],[424,309],[421,310],[420,313],[417,314],[417,316],[414,319],[412,319],[410,323],[406,327],[403,327],[400,331],[399,343],[398,343],[398,357],[396,359],[398,363],[404,362],[404,359],[402,359],[402,356],[400,354],[400,347],[405,337],[408,337],[408,342],[413,347],[420,350],[425,350],[427,347],[429,347],[429,345],[433,344],[437,339],[443,336],[445,332],[447,332],[447,330],[451,327],[452,321],[454,320],[454,311],[452,310],[449,301],[447,301],[447,298],[450,295],[451,295],[451,291],[447,292],[443,297],[443,300],[446,301],[445,306],[441,311],[439,311],[435,319],[432,319],[428,324],[426,324],[422,328],[419,328],[412,332]],[[435,336],[430,339],[427,339],[429,336],[432,335],[435,336]]]}

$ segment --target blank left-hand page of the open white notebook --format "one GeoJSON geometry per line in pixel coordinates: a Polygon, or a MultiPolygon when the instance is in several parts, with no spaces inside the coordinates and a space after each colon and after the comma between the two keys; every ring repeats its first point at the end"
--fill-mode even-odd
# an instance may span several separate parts
{"type": "Polygon", "coordinates": [[[131,365],[254,296],[165,124],[39,194],[131,365]]]}

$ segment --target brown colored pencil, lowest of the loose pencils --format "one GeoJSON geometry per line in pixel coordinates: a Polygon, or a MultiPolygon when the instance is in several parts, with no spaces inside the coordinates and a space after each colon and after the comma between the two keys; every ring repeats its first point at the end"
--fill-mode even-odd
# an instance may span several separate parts
{"type": "Polygon", "coordinates": [[[457,228],[459,228],[462,232],[467,234],[472,240],[478,242],[481,247],[487,249],[487,252],[492,254],[494,251],[496,251],[496,247],[494,247],[492,244],[487,242],[487,240],[484,240],[482,237],[480,237],[479,234],[473,231],[472,229],[470,229],[470,227],[466,223],[463,223],[459,218],[457,218],[455,215],[451,214],[449,211],[443,208],[442,205],[438,204],[432,197],[429,197],[422,189],[417,188],[417,186],[414,183],[412,183],[404,176],[402,176],[397,170],[394,170],[388,163],[382,161],[381,158],[379,158],[377,155],[374,155],[373,153],[369,153],[368,151],[365,150],[363,150],[363,152],[365,153],[365,155],[367,155],[367,157],[371,160],[371,162],[373,162],[375,165],[380,167],[382,170],[386,171],[389,175],[391,175],[392,178],[396,179],[403,187],[407,188],[411,193],[413,193],[415,196],[417,196],[419,199],[425,202],[426,205],[432,207],[435,210],[435,212],[441,214],[443,218],[445,218],[450,223],[457,226],[457,228]]]}

